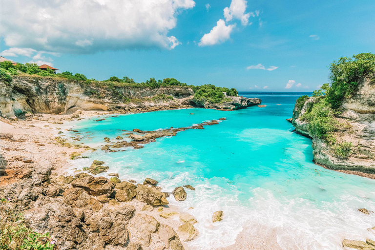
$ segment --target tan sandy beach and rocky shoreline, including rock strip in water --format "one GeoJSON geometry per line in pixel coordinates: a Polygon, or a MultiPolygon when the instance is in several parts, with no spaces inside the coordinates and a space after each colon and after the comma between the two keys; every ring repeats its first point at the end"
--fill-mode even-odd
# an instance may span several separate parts
{"type": "MultiPolygon", "coordinates": [[[[51,242],[60,249],[188,249],[185,242],[199,234],[194,228],[198,222],[188,211],[168,206],[166,197],[171,195],[183,202],[187,197],[185,189],[195,190],[194,187],[187,184],[164,193],[158,182],[149,178],[136,184],[133,180],[120,180],[117,173],[108,174],[113,176],[109,179],[95,177],[107,170],[101,168],[104,162],[100,161],[86,169],[93,175],[63,175],[70,168],[67,163],[72,154],[95,149],[60,144],[54,139],[55,134],[66,121],[98,114],[108,112],[28,115],[23,121],[1,119],[2,220],[11,222],[12,216],[21,212],[27,227],[39,233],[49,232],[51,242]]],[[[149,143],[186,129],[217,124],[214,120],[158,133],[137,130],[132,135],[146,137],[149,143]],[[152,136],[146,136],[149,134],[152,136]]],[[[135,137],[133,141],[145,140],[137,141],[135,137]]],[[[212,215],[213,222],[222,219],[222,211],[212,215]]]]}

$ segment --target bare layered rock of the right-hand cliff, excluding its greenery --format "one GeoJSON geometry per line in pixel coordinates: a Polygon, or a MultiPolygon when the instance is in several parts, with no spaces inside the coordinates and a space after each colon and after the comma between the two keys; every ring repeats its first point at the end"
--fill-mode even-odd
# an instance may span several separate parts
{"type": "MultiPolygon", "coordinates": [[[[308,98],[304,104],[296,103],[292,125],[296,132],[312,138],[315,163],[335,170],[354,170],[375,173],[375,85],[371,78],[358,82],[358,91],[351,98],[344,99],[335,119],[345,128],[334,133],[336,142],[351,143],[348,157],[337,157],[334,148],[326,140],[312,133],[312,126],[302,116],[318,101],[308,98]]],[[[324,98],[320,97],[320,98],[324,98]]]]}

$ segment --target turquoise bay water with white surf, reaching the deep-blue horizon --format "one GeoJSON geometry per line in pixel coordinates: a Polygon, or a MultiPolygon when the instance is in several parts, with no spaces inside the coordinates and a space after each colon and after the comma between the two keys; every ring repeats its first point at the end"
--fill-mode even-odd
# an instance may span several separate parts
{"type": "Polygon", "coordinates": [[[190,129],[157,139],[142,149],[87,153],[90,158],[73,164],[82,168],[102,160],[110,167],[108,173],[118,172],[121,179],[137,182],[150,177],[158,180],[164,191],[188,184],[196,187],[196,191],[187,190],[184,202],[168,198],[181,210],[194,207],[189,212],[199,221],[195,227],[200,235],[188,243],[191,249],[233,244],[246,225],[253,230],[261,226],[274,230],[285,250],[339,250],[344,238],[375,240],[367,230],[375,226],[375,216],[356,211],[375,210],[375,180],[312,163],[311,140],[294,133],[286,121],[301,94],[240,93],[262,99],[267,105],[264,108],[194,108],[73,122],[83,136],[81,142],[99,146],[104,144],[104,137],[114,139],[124,134],[123,129],[156,130],[227,118],[203,130],[190,129]],[[216,210],[223,210],[225,217],[212,224],[216,210]]]}

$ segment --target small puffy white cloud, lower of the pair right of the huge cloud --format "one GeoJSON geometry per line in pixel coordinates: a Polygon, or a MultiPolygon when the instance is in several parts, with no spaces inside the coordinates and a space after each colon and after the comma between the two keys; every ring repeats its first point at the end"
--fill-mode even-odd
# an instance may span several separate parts
{"type": "Polygon", "coordinates": [[[208,34],[205,34],[201,38],[201,42],[198,43],[199,46],[208,46],[214,44],[220,44],[227,41],[230,38],[230,33],[236,24],[225,25],[225,21],[220,19],[217,21],[216,26],[211,29],[208,34]]]}

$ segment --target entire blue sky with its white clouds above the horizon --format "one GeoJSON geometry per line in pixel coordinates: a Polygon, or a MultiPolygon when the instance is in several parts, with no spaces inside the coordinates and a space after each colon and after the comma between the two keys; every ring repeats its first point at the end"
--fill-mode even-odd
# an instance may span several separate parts
{"type": "Polygon", "coordinates": [[[0,11],[2,56],[97,80],[312,91],[333,60],[375,53],[374,0],[1,0],[0,11]]]}

